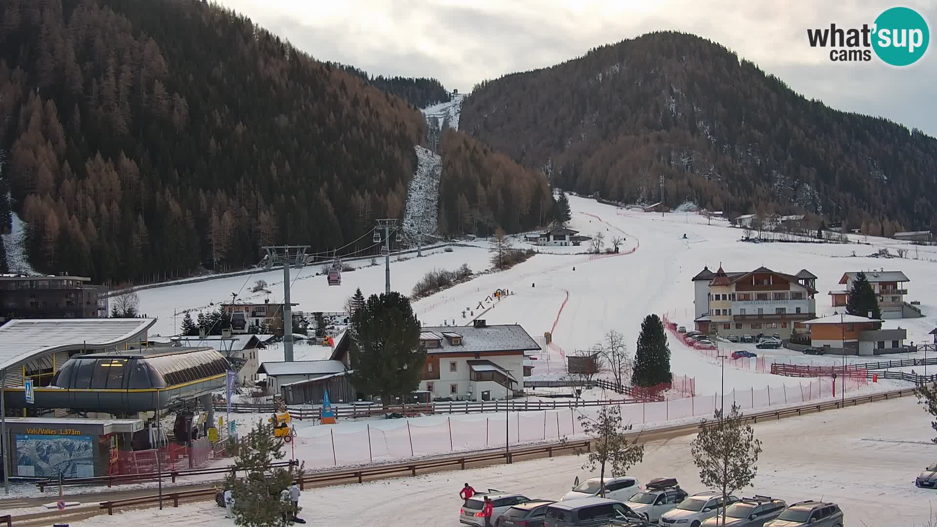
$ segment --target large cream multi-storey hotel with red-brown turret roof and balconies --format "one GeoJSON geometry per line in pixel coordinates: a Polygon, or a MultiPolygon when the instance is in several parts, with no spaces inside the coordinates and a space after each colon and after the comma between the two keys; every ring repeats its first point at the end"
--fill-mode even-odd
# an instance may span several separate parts
{"type": "Polygon", "coordinates": [[[753,271],[714,273],[708,267],[693,277],[693,323],[710,335],[779,334],[790,336],[796,322],[816,315],[816,276],[758,267],[753,271]]]}

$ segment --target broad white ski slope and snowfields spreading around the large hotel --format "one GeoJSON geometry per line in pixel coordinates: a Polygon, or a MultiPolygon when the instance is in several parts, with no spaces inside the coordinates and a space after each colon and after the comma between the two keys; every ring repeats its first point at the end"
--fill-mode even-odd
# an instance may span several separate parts
{"type": "MultiPolygon", "coordinates": [[[[610,329],[624,333],[632,346],[636,341],[642,319],[648,313],[669,313],[679,324],[692,326],[692,277],[704,265],[716,268],[720,264],[727,271],[751,270],[765,265],[768,268],[796,273],[802,268],[810,270],[817,280],[816,304],[818,314],[832,314],[830,298],[825,293],[839,289],[843,272],[885,267],[901,270],[910,279],[910,299],[920,300],[927,315],[919,319],[885,322],[885,327],[901,326],[908,330],[908,341],[928,342],[928,333],[934,327],[937,315],[937,248],[918,248],[919,260],[914,260],[912,247],[908,259],[880,259],[852,257],[853,252],[866,255],[879,248],[909,248],[895,240],[869,237],[871,245],[751,244],[737,241],[741,230],[695,214],[649,214],[618,209],[615,206],[570,196],[573,220],[570,227],[583,234],[614,234],[626,237],[621,254],[595,258],[573,254],[579,248],[544,248],[565,254],[539,254],[513,269],[484,274],[414,304],[423,324],[469,324],[473,317],[481,317],[488,324],[522,324],[531,336],[543,336],[552,331],[553,340],[566,353],[584,349],[602,339],[610,329]],[[683,234],[687,239],[683,239],[683,234]],[[573,270],[575,267],[575,270],[573,270]],[[485,301],[496,289],[508,289],[511,294],[499,302],[485,301]],[[482,308],[479,309],[479,303],[482,308]],[[468,310],[467,310],[468,309],[468,310]],[[466,316],[463,318],[463,311],[466,316]]],[[[455,247],[453,252],[437,249],[424,258],[406,262],[392,262],[391,281],[395,290],[409,294],[413,284],[433,268],[454,269],[466,263],[473,271],[490,267],[487,243],[479,241],[476,247],[455,247]]],[[[518,247],[523,244],[517,243],[518,247]]],[[[329,287],[326,279],[313,276],[317,266],[306,267],[295,279],[292,300],[304,311],[338,311],[345,299],[361,287],[364,294],[377,294],[384,288],[384,269],[381,265],[365,267],[343,273],[342,285],[329,287]]],[[[240,298],[262,301],[265,295],[250,295],[249,286],[256,279],[270,283],[271,301],[282,298],[282,272],[274,270],[252,277],[216,279],[198,284],[186,284],[141,291],[141,311],[158,316],[154,333],[169,335],[173,331],[173,309],[183,310],[205,306],[209,302],[231,300],[232,292],[242,291],[240,298]],[[244,289],[242,290],[242,286],[244,289]]],[[[177,319],[181,322],[181,317],[177,319]]],[[[177,324],[178,324],[177,322],[177,324]]],[[[734,346],[734,345],[733,345],[734,346]]],[[[739,349],[741,349],[740,346],[739,349]]],[[[706,358],[676,340],[671,341],[672,369],[676,374],[696,378],[699,394],[711,394],[721,383],[721,369],[716,359],[706,358]]],[[[758,350],[759,356],[768,355],[779,360],[835,361],[836,357],[805,357],[788,350],[758,350]]],[[[562,359],[557,351],[547,355],[550,374],[555,374],[562,359]]],[[[900,358],[905,358],[901,355],[900,358]]],[[[544,357],[546,358],[546,357],[544,357]]],[[[891,358],[888,356],[882,358],[891,358]]],[[[894,357],[899,358],[899,357],[894,357]]],[[[535,375],[546,374],[545,361],[537,362],[535,375]]],[[[757,371],[725,369],[726,387],[748,389],[780,385],[777,377],[757,371]]]]}

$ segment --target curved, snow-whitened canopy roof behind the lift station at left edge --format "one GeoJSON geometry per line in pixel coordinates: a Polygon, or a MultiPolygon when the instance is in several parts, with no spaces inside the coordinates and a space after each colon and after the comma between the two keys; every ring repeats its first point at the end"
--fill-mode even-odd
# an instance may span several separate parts
{"type": "Polygon", "coordinates": [[[108,348],[137,338],[156,319],[17,319],[0,327],[0,369],[41,354],[108,348]]]}

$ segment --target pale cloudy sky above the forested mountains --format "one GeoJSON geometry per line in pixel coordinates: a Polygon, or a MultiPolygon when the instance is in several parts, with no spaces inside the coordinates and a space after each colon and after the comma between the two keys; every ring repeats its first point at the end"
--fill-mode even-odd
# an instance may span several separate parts
{"type": "Polygon", "coordinates": [[[915,65],[834,63],[807,28],[861,27],[934,0],[220,0],[320,60],[372,74],[436,77],[448,89],[543,68],[656,30],[715,40],[798,93],[937,136],[937,44],[915,65]]]}

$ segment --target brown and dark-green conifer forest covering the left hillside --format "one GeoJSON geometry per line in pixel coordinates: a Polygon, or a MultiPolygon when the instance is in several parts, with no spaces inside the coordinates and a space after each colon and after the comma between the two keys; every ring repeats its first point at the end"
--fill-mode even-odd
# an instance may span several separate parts
{"type": "Polygon", "coordinates": [[[115,281],[340,246],[399,216],[424,133],[406,101],[197,0],[7,0],[0,116],[31,262],[115,281]]]}

